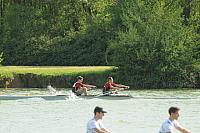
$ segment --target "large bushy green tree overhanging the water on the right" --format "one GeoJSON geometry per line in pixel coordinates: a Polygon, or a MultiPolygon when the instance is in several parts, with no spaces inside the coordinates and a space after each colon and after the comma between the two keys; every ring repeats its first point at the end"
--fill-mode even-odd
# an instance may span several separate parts
{"type": "Polygon", "coordinates": [[[122,79],[133,86],[156,88],[193,82],[188,74],[196,61],[193,48],[199,46],[198,34],[189,19],[184,22],[180,1],[126,0],[116,8],[120,23],[115,27],[120,28],[110,51],[122,79]]]}

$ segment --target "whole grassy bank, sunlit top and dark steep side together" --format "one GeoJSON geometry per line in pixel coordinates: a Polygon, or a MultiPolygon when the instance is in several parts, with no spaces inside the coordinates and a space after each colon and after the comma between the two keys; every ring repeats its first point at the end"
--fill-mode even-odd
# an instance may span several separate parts
{"type": "Polygon", "coordinates": [[[107,76],[116,70],[113,66],[1,66],[0,87],[71,87],[78,75],[85,81],[102,86],[107,76]]]}

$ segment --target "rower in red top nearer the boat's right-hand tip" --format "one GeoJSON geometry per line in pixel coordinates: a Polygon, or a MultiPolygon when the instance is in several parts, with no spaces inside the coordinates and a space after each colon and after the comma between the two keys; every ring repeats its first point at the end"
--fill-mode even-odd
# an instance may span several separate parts
{"type": "Polygon", "coordinates": [[[119,90],[124,90],[130,88],[126,85],[116,84],[113,82],[112,77],[108,77],[107,82],[105,83],[103,87],[103,94],[117,94],[119,90]]]}

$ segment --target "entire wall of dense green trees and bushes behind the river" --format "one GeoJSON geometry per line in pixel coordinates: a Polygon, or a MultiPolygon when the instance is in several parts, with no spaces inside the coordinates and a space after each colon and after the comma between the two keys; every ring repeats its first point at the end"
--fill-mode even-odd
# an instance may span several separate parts
{"type": "Polygon", "coordinates": [[[200,62],[199,1],[0,3],[3,65],[115,65],[119,80],[135,87],[195,82],[191,73],[200,62]]]}

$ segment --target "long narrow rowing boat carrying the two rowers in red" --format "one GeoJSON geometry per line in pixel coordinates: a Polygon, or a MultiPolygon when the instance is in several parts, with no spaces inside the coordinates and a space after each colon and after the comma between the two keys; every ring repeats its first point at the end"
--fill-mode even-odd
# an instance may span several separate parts
{"type": "MultiPolygon", "coordinates": [[[[0,100],[19,100],[28,98],[42,98],[45,100],[66,100],[70,99],[71,95],[0,95],[0,100]]],[[[123,100],[132,98],[131,95],[127,94],[109,94],[109,95],[88,95],[88,96],[75,96],[74,99],[108,99],[108,100],[123,100]]]]}

